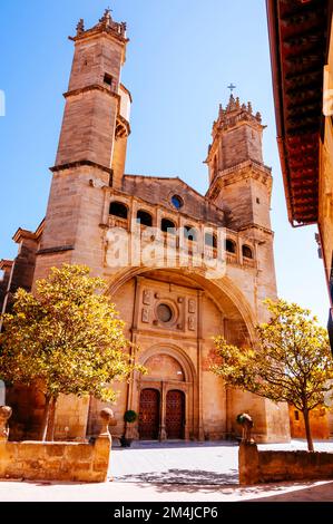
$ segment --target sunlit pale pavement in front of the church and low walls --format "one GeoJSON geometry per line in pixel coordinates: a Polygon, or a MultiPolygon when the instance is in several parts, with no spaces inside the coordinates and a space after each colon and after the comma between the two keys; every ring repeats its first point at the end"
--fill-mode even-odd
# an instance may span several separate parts
{"type": "MultiPolygon", "coordinates": [[[[261,449],[306,449],[303,441],[262,445],[261,449]]],[[[333,452],[333,443],[316,443],[333,452]]],[[[333,502],[333,481],[239,487],[237,452],[232,443],[136,444],[115,448],[105,484],[1,482],[0,501],[72,502],[333,502]]]]}

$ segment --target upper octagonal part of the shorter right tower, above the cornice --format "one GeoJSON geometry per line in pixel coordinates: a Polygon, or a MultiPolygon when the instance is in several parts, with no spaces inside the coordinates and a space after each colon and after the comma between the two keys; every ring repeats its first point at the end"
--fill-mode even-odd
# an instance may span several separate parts
{"type": "Polygon", "coordinates": [[[228,227],[251,225],[271,229],[271,168],[264,165],[259,113],[231,95],[225,109],[219,106],[213,124],[213,143],[206,163],[209,171],[210,201],[228,214],[228,227]]]}

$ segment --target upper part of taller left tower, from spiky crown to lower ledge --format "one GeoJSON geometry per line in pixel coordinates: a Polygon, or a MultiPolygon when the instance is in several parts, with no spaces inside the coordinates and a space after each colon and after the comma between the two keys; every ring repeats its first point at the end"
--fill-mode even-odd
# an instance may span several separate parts
{"type": "MultiPolygon", "coordinates": [[[[52,171],[81,163],[107,173],[112,168],[117,139],[129,134],[130,95],[120,84],[128,42],[126,25],[115,22],[107,9],[91,29],[85,30],[80,20],[70,40],[75,56],[52,171]]],[[[124,172],[118,166],[115,171],[112,185],[120,186],[124,172]]]]}

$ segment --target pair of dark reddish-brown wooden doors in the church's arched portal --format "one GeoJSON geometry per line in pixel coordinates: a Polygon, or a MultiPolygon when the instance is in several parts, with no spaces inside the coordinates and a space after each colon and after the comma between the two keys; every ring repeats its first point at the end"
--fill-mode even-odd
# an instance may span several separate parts
{"type": "Polygon", "coordinates": [[[161,409],[158,389],[146,388],[140,394],[139,437],[145,440],[157,440],[164,426],[168,439],[184,438],[185,395],[178,389],[170,389],[161,409]],[[163,420],[161,414],[165,414],[163,420]]]}

